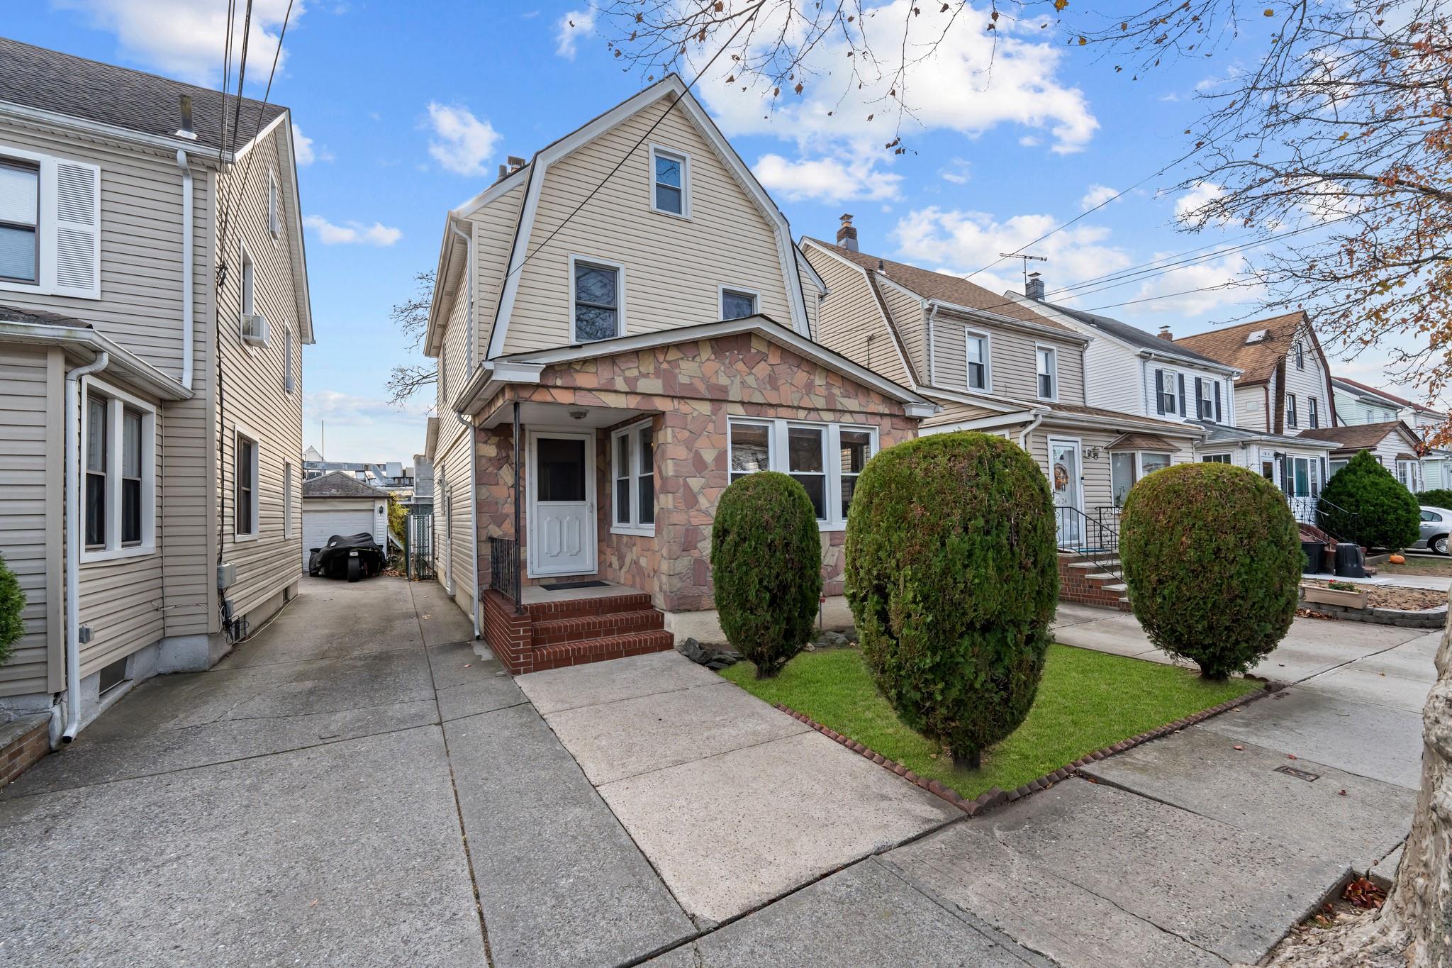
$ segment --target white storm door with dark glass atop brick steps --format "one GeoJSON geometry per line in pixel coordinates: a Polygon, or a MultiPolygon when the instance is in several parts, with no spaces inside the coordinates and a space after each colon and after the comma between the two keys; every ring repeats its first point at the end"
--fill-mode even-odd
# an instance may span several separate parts
{"type": "Polygon", "coordinates": [[[529,492],[530,576],[594,575],[594,434],[533,431],[529,492]]]}

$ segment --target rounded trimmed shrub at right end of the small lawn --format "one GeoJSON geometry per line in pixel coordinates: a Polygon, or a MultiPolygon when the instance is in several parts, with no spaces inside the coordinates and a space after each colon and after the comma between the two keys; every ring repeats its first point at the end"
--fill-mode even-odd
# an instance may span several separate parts
{"type": "Polygon", "coordinates": [[[1301,531],[1285,495],[1231,464],[1178,464],[1130,489],[1119,560],[1150,641],[1207,679],[1244,672],[1295,618],[1301,531]]]}

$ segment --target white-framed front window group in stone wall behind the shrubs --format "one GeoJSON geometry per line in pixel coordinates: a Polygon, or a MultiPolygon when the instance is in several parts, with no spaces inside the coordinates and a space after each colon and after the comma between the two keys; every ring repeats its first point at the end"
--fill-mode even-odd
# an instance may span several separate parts
{"type": "Polygon", "coordinates": [[[877,453],[873,428],[788,419],[732,419],[729,441],[733,482],[758,470],[790,475],[829,531],[847,525],[857,477],[877,453]]]}

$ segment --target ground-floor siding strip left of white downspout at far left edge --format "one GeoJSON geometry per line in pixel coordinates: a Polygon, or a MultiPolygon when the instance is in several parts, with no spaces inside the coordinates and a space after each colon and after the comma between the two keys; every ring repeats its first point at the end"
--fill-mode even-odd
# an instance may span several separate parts
{"type": "Polygon", "coordinates": [[[60,350],[0,344],[0,556],[25,592],[23,634],[0,666],[0,697],[60,689],[60,350]]]}

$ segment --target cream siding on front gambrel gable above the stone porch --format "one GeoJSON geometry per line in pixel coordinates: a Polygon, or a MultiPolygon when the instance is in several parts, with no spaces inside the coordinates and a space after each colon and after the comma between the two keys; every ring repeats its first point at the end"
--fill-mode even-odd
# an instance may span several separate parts
{"type": "Polygon", "coordinates": [[[505,354],[571,343],[571,255],[624,266],[626,332],[720,319],[720,283],[759,293],[762,313],[793,325],[786,286],[797,280],[783,277],[771,225],[678,109],[571,216],[666,107],[656,103],[637,112],[546,171],[505,354]],[[652,144],[690,155],[690,219],[650,210],[652,144]]]}

